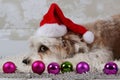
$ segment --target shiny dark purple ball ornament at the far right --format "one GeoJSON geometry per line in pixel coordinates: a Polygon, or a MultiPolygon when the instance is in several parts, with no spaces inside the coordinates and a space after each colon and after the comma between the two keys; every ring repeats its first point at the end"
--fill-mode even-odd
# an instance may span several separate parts
{"type": "Polygon", "coordinates": [[[108,63],[105,64],[103,72],[105,74],[108,74],[108,75],[109,74],[117,74],[117,72],[118,72],[118,66],[114,62],[108,62],[108,63]]]}

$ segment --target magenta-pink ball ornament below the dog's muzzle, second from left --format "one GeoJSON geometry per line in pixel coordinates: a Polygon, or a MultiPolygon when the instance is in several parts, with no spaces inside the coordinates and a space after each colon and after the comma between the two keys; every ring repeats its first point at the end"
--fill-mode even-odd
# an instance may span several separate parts
{"type": "Polygon", "coordinates": [[[33,62],[32,71],[37,74],[42,74],[45,71],[45,64],[42,61],[33,62]]]}

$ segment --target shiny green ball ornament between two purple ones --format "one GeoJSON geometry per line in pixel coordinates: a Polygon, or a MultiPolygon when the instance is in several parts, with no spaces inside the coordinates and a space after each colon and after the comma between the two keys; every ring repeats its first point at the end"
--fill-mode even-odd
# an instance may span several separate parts
{"type": "Polygon", "coordinates": [[[66,61],[61,64],[61,72],[62,73],[71,72],[71,71],[73,71],[73,65],[70,62],[66,61]]]}

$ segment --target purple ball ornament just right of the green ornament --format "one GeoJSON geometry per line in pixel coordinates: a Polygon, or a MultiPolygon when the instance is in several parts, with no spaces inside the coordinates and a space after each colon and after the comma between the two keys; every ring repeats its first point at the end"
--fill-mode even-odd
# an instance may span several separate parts
{"type": "Polygon", "coordinates": [[[86,62],[79,62],[76,66],[76,71],[79,74],[86,73],[89,70],[90,70],[90,67],[89,67],[88,63],[86,63],[86,62]]]}

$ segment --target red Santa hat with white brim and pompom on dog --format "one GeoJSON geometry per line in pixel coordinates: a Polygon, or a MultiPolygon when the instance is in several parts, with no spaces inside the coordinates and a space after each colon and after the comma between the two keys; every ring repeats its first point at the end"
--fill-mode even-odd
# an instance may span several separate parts
{"type": "Polygon", "coordinates": [[[67,30],[83,35],[84,41],[89,44],[94,41],[94,34],[91,31],[88,31],[84,26],[75,24],[70,19],[66,18],[55,3],[50,6],[48,12],[44,15],[35,35],[61,37],[67,33],[67,30]]]}

